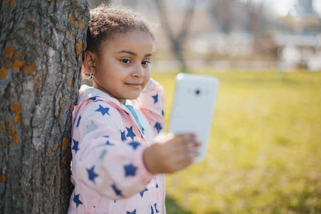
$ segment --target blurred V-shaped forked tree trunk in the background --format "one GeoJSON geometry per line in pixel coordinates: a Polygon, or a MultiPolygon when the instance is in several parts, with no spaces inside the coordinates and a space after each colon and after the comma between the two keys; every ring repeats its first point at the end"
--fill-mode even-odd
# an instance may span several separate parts
{"type": "Polygon", "coordinates": [[[182,72],[185,72],[187,70],[187,66],[183,56],[183,45],[187,37],[190,23],[193,19],[196,0],[190,0],[185,3],[187,6],[184,12],[183,23],[179,25],[182,26],[180,29],[177,29],[178,25],[176,21],[172,22],[168,20],[169,16],[167,13],[165,1],[155,0],[155,3],[159,12],[160,23],[162,23],[165,34],[171,43],[174,56],[181,63],[182,72]],[[175,28],[175,30],[178,30],[177,35],[175,35],[173,28],[175,28]]]}

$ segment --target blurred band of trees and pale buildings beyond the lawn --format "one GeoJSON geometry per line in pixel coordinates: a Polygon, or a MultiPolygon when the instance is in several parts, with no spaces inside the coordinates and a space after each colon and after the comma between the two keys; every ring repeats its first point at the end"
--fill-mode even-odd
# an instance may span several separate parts
{"type": "Polygon", "coordinates": [[[160,24],[155,71],[321,70],[320,0],[105,2],[130,5],[160,24]]]}

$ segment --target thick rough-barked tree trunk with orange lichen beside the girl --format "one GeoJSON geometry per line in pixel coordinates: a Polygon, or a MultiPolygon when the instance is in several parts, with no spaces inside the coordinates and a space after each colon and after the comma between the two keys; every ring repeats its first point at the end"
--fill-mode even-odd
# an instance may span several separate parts
{"type": "Polygon", "coordinates": [[[0,213],[66,213],[86,0],[0,0],[0,213]]]}

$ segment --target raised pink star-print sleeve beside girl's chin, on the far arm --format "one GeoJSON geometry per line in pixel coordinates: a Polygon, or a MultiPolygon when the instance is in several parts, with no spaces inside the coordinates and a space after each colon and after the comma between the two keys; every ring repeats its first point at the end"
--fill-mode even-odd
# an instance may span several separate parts
{"type": "Polygon", "coordinates": [[[141,110],[157,135],[165,126],[164,106],[165,95],[162,85],[150,79],[145,89],[134,101],[136,108],[141,110]]]}

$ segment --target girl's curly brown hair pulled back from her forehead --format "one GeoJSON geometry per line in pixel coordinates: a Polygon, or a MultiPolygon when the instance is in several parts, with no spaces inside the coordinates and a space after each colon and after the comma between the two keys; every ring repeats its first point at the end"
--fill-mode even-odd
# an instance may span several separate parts
{"type": "Polygon", "coordinates": [[[142,30],[155,38],[156,25],[129,7],[101,4],[90,10],[87,49],[99,54],[102,44],[121,33],[142,30]]]}

